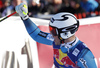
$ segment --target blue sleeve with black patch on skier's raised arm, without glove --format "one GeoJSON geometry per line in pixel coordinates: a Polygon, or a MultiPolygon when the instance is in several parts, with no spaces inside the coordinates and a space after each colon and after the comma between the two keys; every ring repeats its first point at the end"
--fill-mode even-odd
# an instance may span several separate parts
{"type": "Polygon", "coordinates": [[[23,22],[32,39],[42,44],[52,45],[53,40],[51,40],[52,37],[50,33],[42,32],[29,18],[27,20],[23,20],[23,22]]]}

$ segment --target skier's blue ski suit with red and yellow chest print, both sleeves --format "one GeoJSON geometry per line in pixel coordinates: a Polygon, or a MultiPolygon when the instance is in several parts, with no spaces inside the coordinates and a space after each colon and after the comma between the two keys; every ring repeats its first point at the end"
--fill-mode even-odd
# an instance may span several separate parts
{"type": "Polygon", "coordinates": [[[67,44],[55,45],[50,33],[41,31],[29,18],[23,22],[27,32],[36,42],[53,46],[56,68],[97,68],[94,55],[77,37],[67,44]]]}

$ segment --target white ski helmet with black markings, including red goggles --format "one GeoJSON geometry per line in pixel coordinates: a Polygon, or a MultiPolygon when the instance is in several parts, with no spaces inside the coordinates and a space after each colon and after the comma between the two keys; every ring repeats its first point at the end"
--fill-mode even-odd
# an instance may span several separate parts
{"type": "Polygon", "coordinates": [[[79,21],[76,17],[67,12],[54,15],[49,23],[50,32],[60,40],[68,39],[78,30],[79,21]]]}

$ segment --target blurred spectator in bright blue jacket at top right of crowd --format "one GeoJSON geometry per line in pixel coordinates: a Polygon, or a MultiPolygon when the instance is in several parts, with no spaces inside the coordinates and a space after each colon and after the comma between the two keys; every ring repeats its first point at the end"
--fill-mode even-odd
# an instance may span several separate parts
{"type": "Polygon", "coordinates": [[[98,3],[95,0],[81,0],[80,5],[86,12],[95,11],[98,7],[98,3]]]}

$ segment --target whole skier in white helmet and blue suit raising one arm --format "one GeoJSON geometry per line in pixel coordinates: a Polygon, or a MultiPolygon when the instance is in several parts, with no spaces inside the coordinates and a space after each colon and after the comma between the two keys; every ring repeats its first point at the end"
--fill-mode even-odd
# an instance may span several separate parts
{"type": "Polygon", "coordinates": [[[46,33],[29,19],[26,4],[21,3],[15,9],[35,41],[53,46],[55,68],[97,68],[90,49],[75,36],[79,21],[73,14],[55,14],[49,23],[50,33],[46,33]]]}

